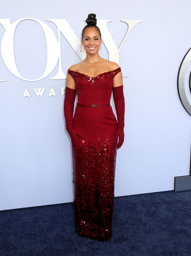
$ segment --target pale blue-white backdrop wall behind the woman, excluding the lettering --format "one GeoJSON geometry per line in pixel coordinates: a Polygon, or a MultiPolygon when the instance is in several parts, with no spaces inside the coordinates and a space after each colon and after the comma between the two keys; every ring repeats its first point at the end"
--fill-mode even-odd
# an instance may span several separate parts
{"type": "MultiPolygon", "coordinates": [[[[134,26],[119,52],[125,95],[125,142],[117,150],[115,197],[173,190],[174,177],[189,174],[191,116],[181,105],[177,74],[191,47],[191,3],[186,0],[100,1],[8,0],[0,19],[66,19],[80,39],[84,19],[95,13],[107,23],[117,48],[128,26],[120,20],[143,20],[134,26]],[[91,5],[93,7],[91,7],[91,5]]],[[[5,29],[0,25],[0,41],[5,29]]],[[[62,69],[81,61],[60,33],[62,69]]],[[[18,24],[14,53],[19,73],[37,79],[45,71],[47,45],[41,26],[18,24]]],[[[108,52],[102,44],[102,58],[108,52]]],[[[13,75],[0,55],[0,210],[73,201],[70,137],[63,117],[66,80],[24,81],[13,75]],[[45,88],[37,97],[34,88],[45,88]],[[49,96],[53,88],[56,96],[49,96]],[[27,89],[31,97],[23,97],[27,89]]],[[[189,70],[186,73],[188,81],[189,70]]],[[[191,95],[186,89],[189,101],[191,95]]],[[[113,111],[115,106],[111,101],[113,111]]],[[[75,104],[76,105],[76,104],[75,104]]]]}

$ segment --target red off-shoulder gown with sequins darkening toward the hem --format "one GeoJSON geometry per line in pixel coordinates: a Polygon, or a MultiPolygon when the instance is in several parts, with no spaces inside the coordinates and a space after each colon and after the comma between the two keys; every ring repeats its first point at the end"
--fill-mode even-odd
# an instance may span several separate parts
{"type": "MultiPolygon", "coordinates": [[[[117,68],[93,78],[68,69],[75,80],[78,103],[110,104],[113,78],[120,71],[117,68]]],[[[73,128],[85,137],[78,137],[81,150],[72,142],[76,232],[96,241],[108,240],[112,236],[117,119],[111,105],[76,106],[73,128]]]]}

